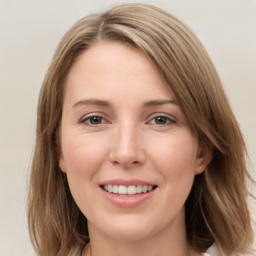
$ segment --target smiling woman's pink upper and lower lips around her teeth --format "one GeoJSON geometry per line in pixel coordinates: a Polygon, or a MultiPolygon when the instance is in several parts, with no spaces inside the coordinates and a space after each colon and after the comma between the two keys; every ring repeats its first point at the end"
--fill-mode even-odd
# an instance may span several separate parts
{"type": "MultiPolygon", "coordinates": [[[[106,180],[102,182],[100,185],[155,185],[153,183],[145,182],[138,179],[129,179],[129,180],[123,180],[123,179],[111,179],[106,180]]],[[[117,207],[121,208],[132,208],[141,205],[145,201],[147,201],[156,191],[157,187],[155,187],[153,190],[146,192],[146,193],[139,193],[131,196],[120,196],[114,193],[109,193],[102,189],[102,187],[99,186],[100,193],[102,196],[111,204],[117,207]]]]}

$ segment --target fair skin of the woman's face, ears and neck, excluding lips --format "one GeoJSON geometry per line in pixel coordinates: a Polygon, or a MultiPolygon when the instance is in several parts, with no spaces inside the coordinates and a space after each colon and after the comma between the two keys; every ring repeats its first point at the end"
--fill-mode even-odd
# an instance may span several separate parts
{"type": "Polygon", "coordinates": [[[88,220],[91,255],[197,255],[186,240],[184,202],[211,152],[141,52],[102,42],[79,56],[66,80],[59,146],[59,167],[88,220]],[[99,187],[113,178],[157,187],[138,206],[117,207],[99,187]]]}

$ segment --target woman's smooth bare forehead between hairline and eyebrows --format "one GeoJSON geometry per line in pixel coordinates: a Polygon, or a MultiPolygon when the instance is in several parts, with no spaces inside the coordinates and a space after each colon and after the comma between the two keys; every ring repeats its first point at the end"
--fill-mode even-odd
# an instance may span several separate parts
{"type": "Polygon", "coordinates": [[[171,97],[157,68],[139,50],[120,42],[102,42],[83,52],[71,66],[65,94],[111,97],[143,93],[171,97]],[[95,95],[94,95],[95,94],[95,95]]]}

